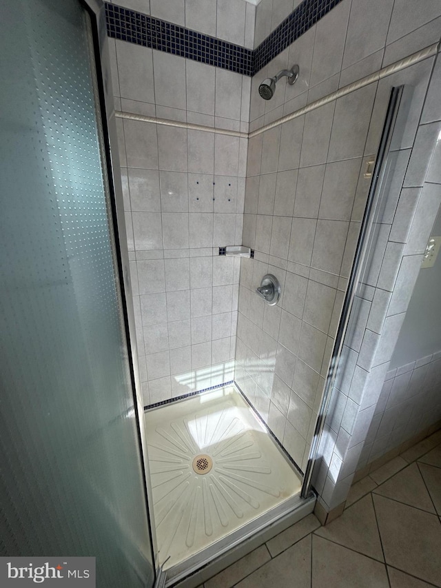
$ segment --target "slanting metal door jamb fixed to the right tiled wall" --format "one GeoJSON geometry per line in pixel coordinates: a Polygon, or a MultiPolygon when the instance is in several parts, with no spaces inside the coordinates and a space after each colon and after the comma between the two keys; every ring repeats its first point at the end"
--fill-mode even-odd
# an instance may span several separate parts
{"type": "Polygon", "coordinates": [[[392,88],[391,97],[389,99],[389,106],[387,108],[386,119],[384,121],[384,127],[382,136],[380,139],[380,145],[378,148],[378,155],[376,158],[375,168],[372,174],[371,186],[369,188],[369,195],[367,199],[367,205],[365,214],[363,215],[360,235],[358,236],[358,242],[356,252],[353,259],[353,265],[351,275],[347,285],[345,300],[343,301],[342,311],[340,313],[340,321],[338,325],[338,331],[336,333],[336,339],[334,347],[332,349],[331,358],[329,360],[329,367],[327,372],[327,378],[325,381],[325,387],[323,390],[322,402],[318,413],[318,419],[316,422],[316,428],[314,430],[314,437],[311,443],[311,450],[309,452],[309,458],[307,467],[305,470],[305,476],[303,478],[301,494],[302,498],[307,498],[311,493],[312,476],[314,474],[314,466],[318,463],[320,458],[320,443],[322,440],[322,434],[325,429],[325,419],[327,416],[329,403],[331,401],[331,395],[334,389],[338,368],[340,367],[340,358],[342,354],[343,344],[345,343],[345,336],[349,326],[349,319],[351,317],[351,309],[353,307],[353,301],[356,297],[358,286],[360,285],[360,279],[363,272],[365,271],[365,263],[368,261],[368,244],[369,236],[373,229],[374,219],[378,210],[378,203],[380,201],[380,187],[382,177],[384,176],[385,163],[387,161],[387,155],[389,154],[389,148],[392,141],[393,132],[398,119],[400,111],[400,104],[402,103],[404,86],[392,88]]]}

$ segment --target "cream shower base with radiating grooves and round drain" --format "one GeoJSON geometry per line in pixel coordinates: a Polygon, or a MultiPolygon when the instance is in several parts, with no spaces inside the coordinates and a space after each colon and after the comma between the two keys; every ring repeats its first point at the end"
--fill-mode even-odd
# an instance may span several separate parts
{"type": "Polygon", "coordinates": [[[300,492],[300,475],[232,386],[152,409],[145,422],[164,569],[300,492]]]}

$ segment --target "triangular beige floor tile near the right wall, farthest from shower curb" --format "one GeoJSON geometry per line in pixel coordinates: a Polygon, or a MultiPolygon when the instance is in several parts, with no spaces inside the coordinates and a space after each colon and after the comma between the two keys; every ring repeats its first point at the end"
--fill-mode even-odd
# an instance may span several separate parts
{"type": "Polygon", "coordinates": [[[402,469],[401,472],[392,476],[387,482],[378,486],[373,493],[381,494],[381,496],[398,500],[400,503],[436,514],[416,463],[411,463],[411,465],[402,469]]]}

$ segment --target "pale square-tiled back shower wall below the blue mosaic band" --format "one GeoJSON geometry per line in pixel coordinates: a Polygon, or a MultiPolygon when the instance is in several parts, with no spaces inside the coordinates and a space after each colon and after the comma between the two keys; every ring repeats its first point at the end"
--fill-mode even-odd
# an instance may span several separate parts
{"type": "MultiPolygon", "coordinates": [[[[135,114],[247,129],[249,79],[111,41],[114,96],[135,114]]],[[[145,405],[232,381],[247,139],[117,119],[145,405]]]]}

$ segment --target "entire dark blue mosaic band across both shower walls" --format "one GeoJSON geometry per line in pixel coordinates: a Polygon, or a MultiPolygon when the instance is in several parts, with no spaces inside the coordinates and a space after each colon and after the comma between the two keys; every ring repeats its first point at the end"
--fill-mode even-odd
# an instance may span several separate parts
{"type": "Polygon", "coordinates": [[[115,4],[105,3],[105,16],[107,34],[113,39],[254,76],[339,2],[341,0],[303,0],[254,50],[115,4]]]}

